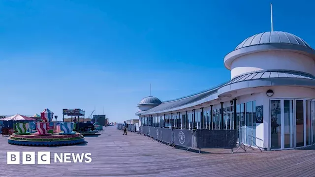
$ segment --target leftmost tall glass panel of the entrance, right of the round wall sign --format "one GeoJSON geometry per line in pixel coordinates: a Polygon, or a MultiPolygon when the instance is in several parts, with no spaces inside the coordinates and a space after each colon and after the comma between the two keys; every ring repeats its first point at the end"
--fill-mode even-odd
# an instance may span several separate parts
{"type": "Polygon", "coordinates": [[[270,101],[271,148],[281,148],[281,101],[270,101]]]}

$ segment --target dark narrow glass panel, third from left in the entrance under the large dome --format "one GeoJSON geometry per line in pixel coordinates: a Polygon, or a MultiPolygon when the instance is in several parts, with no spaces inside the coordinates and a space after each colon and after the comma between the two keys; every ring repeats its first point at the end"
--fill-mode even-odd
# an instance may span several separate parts
{"type": "Polygon", "coordinates": [[[295,101],[296,109],[296,147],[304,146],[304,106],[303,100],[295,101]]]}

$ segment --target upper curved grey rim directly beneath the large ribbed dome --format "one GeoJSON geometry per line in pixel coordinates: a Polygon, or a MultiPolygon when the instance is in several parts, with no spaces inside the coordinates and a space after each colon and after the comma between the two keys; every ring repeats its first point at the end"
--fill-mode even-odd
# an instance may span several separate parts
{"type": "Polygon", "coordinates": [[[243,47],[228,53],[224,57],[225,68],[231,70],[231,64],[234,59],[242,57],[244,55],[253,54],[256,52],[264,51],[291,51],[301,53],[310,57],[315,58],[315,50],[312,48],[304,47],[297,44],[286,44],[286,43],[269,43],[269,44],[257,44],[252,46],[243,47]]]}

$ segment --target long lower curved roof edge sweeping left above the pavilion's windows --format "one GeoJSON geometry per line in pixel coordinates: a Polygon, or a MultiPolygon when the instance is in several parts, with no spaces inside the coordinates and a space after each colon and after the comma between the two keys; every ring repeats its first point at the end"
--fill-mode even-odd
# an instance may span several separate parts
{"type": "MultiPolygon", "coordinates": [[[[266,87],[266,86],[308,86],[315,87],[315,76],[299,72],[299,71],[290,71],[290,70],[262,70],[255,71],[242,74],[234,79],[230,80],[230,82],[221,86],[220,88],[213,89],[213,92],[207,94],[206,97],[202,97],[201,99],[191,100],[191,102],[187,102],[186,104],[179,104],[178,106],[169,105],[164,102],[161,105],[152,108],[147,111],[139,111],[136,113],[137,116],[150,115],[150,114],[159,114],[166,112],[173,112],[181,109],[186,109],[192,106],[199,105],[204,102],[212,101],[223,93],[237,90],[237,89],[246,89],[253,87],[266,87]],[[163,104],[166,107],[162,106],[163,104]],[[159,109],[159,107],[161,109],[159,109]]],[[[179,102],[179,101],[178,101],[179,102]]]]}

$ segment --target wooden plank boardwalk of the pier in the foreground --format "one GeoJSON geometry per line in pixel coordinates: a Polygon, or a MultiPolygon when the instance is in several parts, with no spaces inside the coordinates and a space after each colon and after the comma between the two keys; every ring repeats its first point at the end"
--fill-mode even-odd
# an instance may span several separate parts
{"type": "MultiPolygon", "coordinates": [[[[106,127],[88,144],[69,147],[21,147],[0,137],[0,177],[315,177],[315,150],[244,152],[229,149],[196,152],[159,145],[145,136],[127,136],[106,127]],[[91,163],[7,165],[6,151],[92,153],[91,163]]],[[[53,162],[53,156],[51,156],[53,162]]],[[[22,161],[21,161],[22,162],[22,161]]],[[[37,163],[37,162],[36,162],[37,163]]]]}

